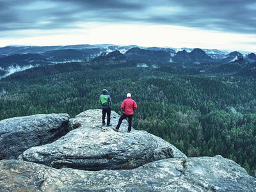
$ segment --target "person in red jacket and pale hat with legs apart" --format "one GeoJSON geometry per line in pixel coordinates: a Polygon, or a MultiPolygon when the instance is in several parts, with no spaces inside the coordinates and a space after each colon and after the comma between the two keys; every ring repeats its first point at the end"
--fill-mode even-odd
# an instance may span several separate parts
{"type": "Polygon", "coordinates": [[[133,111],[137,109],[137,104],[134,100],[131,98],[131,93],[127,93],[127,98],[122,102],[121,109],[124,111],[123,115],[120,116],[118,120],[118,124],[116,125],[116,128],[113,128],[114,131],[118,132],[118,129],[120,125],[122,124],[122,121],[127,118],[128,116],[128,131],[131,132],[132,130],[132,115],[133,111]]]}

